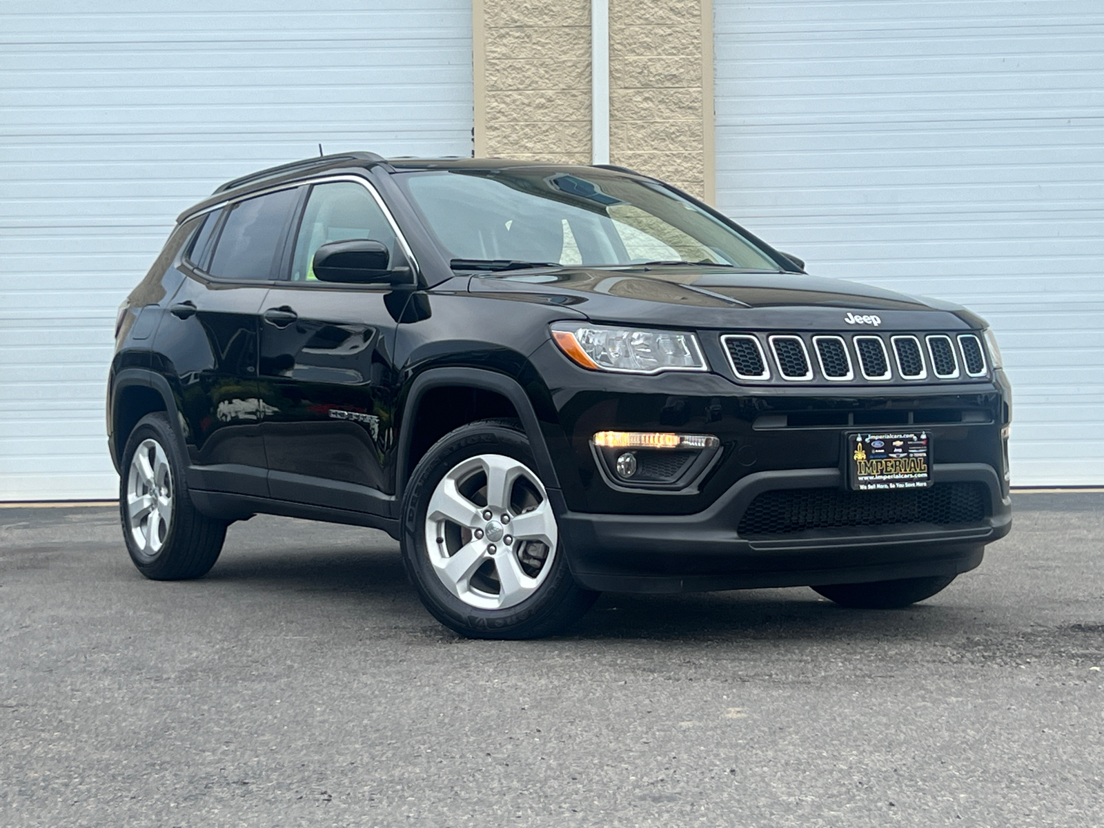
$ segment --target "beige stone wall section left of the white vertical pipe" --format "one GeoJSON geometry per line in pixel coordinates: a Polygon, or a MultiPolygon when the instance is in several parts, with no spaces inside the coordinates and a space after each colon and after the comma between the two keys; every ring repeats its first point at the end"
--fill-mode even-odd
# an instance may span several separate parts
{"type": "Polygon", "coordinates": [[[590,0],[474,3],[476,155],[590,163],[590,0]]]}

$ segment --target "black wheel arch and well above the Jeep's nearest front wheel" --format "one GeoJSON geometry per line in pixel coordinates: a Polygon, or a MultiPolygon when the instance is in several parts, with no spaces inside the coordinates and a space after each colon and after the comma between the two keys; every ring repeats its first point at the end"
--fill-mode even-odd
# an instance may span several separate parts
{"type": "Polygon", "coordinates": [[[461,425],[493,417],[514,418],[521,423],[535,456],[535,470],[546,486],[559,488],[540,422],[521,385],[495,371],[440,368],[420,374],[406,396],[395,469],[396,497],[402,498],[414,467],[440,437],[461,425]],[[460,404],[438,408],[444,402],[460,404]]]}

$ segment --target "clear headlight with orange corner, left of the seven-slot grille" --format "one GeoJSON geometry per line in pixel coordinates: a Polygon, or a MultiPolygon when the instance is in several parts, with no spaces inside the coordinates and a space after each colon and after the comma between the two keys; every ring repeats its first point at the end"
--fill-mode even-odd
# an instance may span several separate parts
{"type": "Polygon", "coordinates": [[[572,362],[592,371],[709,370],[693,333],[560,323],[552,327],[552,338],[572,362]]]}

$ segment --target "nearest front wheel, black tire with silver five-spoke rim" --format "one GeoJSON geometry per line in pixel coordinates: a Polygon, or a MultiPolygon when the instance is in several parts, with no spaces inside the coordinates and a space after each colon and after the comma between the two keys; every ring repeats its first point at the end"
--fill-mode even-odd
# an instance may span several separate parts
{"type": "Polygon", "coordinates": [[[571,575],[535,466],[517,421],[482,420],[437,440],[411,475],[403,562],[426,609],[463,636],[553,635],[598,595],[571,575]]]}

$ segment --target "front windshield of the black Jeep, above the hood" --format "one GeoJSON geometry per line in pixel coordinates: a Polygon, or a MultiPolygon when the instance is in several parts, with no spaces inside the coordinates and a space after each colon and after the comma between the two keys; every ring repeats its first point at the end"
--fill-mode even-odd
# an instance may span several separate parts
{"type": "MultiPolygon", "coordinates": [[[[657,183],[602,170],[428,170],[396,178],[458,266],[778,264],[736,231],[657,183]]],[[[671,274],[677,278],[677,274],[671,274]]]]}

